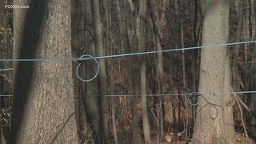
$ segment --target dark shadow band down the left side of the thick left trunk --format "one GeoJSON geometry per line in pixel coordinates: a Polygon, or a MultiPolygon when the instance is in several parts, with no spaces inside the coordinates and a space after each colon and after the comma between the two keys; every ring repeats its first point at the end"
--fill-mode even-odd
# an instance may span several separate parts
{"type": "MultiPolygon", "coordinates": [[[[18,32],[18,34],[23,35],[22,38],[15,39],[14,41],[14,46],[16,45],[16,50],[18,50],[14,51],[14,58],[35,58],[38,50],[42,18],[48,1],[30,0],[29,3],[30,9],[25,13],[24,22],[15,24],[16,26],[23,25],[23,32],[18,32]]],[[[19,30],[17,27],[16,29],[19,30]]],[[[25,107],[30,99],[28,96],[32,87],[32,75],[34,75],[34,62],[14,62],[14,102],[9,143],[18,142],[17,138],[18,134],[21,133],[22,122],[26,121],[24,119],[25,107]]]]}

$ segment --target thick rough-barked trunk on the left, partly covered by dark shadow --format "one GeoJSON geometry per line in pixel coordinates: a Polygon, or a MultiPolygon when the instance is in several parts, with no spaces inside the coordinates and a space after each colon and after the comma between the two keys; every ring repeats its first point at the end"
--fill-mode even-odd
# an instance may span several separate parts
{"type": "MultiPolygon", "coordinates": [[[[70,1],[14,1],[14,58],[70,58],[70,1]]],[[[14,62],[10,143],[78,143],[71,62],[14,62]]]]}

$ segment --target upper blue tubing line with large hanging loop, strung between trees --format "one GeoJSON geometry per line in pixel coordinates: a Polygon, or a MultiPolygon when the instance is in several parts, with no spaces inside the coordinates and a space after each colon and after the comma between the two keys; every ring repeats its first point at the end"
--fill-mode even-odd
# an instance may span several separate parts
{"type": "MultiPolygon", "coordinates": [[[[116,54],[116,55],[105,55],[105,56],[98,56],[93,57],[89,54],[82,55],[80,58],[34,58],[34,59],[0,59],[0,62],[48,62],[48,61],[78,61],[79,64],[77,66],[77,76],[82,82],[90,82],[94,78],[98,76],[98,62],[97,59],[100,58],[116,58],[116,57],[126,57],[126,56],[133,56],[133,55],[141,55],[141,54],[155,54],[155,53],[165,53],[171,51],[179,51],[179,50],[194,50],[194,49],[203,49],[203,48],[213,48],[213,47],[220,47],[220,46],[232,46],[232,45],[240,45],[240,44],[247,44],[247,43],[254,43],[256,41],[246,41],[246,42],[232,42],[232,43],[225,43],[225,44],[218,44],[218,45],[208,45],[208,46],[194,46],[194,47],[186,47],[186,48],[178,48],[178,49],[169,49],[169,50],[155,50],[155,51],[146,51],[146,52],[139,52],[139,53],[130,53],[130,54],[116,54]],[[89,57],[89,58],[85,58],[89,57]],[[93,78],[90,79],[82,79],[78,74],[78,69],[81,66],[81,62],[85,60],[94,59],[97,64],[97,72],[93,78]]],[[[0,71],[6,70],[13,70],[12,68],[2,69],[0,71]]]]}

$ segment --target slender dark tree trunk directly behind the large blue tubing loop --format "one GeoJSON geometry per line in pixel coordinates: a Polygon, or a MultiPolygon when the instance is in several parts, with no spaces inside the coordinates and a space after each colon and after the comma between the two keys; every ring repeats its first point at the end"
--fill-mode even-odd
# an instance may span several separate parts
{"type": "MultiPolygon", "coordinates": [[[[92,21],[92,10],[90,5],[90,0],[86,0],[86,13],[84,17],[86,18],[86,23],[91,23],[92,21]]],[[[85,23],[82,23],[85,25],[85,23]]],[[[93,28],[86,27],[84,29],[86,31],[85,40],[86,45],[82,46],[82,53],[90,54],[91,56],[95,56],[95,45],[94,45],[94,37],[92,35],[93,28]]],[[[79,32],[78,32],[79,33],[79,32]]],[[[96,73],[97,66],[93,60],[85,61],[82,66],[82,72],[85,73],[85,78],[90,79],[94,77],[96,73]]],[[[82,74],[82,75],[83,75],[82,74]]],[[[87,121],[87,126],[84,127],[86,133],[84,133],[84,137],[86,139],[94,139],[96,138],[97,143],[103,142],[103,134],[102,134],[102,119],[100,118],[99,114],[99,103],[98,103],[98,77],[94,78],[93,81],[90,82],[83,82],[83,88],[85,90],[84,97],[82,97],[82,106],[83,110],[82,113],[85,113],[83,116],[83,120],[87,121]],[[90,134],[90,135],[89,135],[90,134]]],[[[88,142],[90,143],[90,142],[88,142]]]]}

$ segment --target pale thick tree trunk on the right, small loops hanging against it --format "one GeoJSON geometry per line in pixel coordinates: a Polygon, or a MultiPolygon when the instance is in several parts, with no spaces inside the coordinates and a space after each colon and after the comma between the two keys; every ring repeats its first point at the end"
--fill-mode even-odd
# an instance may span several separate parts
{"type": "MultiPolygon", "coordinates": [[[[229,2],[206,1],[202,46],[226,43],[228,31],[229,2]]],[[[230,96],[205,94],[227,91],[230,92],[228,50],[225,46],[202,49],[199,93],[203,95],[199,98],[198,116],[191,143],[236,143],[232,106],[226,105],[230,102],[230,96]]]]}

